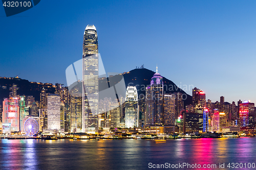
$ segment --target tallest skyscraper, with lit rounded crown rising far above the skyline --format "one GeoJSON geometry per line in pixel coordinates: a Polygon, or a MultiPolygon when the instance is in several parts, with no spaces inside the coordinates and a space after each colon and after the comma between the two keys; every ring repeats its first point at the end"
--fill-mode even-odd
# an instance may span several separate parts
{"type": "Polygon", "coordinates": [[[98,114],[98,35],[94,25],[88,25],[83,35],[82,130],[97,131],[98,114]]]}

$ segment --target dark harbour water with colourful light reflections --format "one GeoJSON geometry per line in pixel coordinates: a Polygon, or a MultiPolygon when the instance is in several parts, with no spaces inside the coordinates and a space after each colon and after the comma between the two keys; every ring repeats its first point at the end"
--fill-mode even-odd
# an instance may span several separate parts
{"type": "Polygon", "coordinates": [[[163,169],[256,169],[252,163],[256,163],[256,137],[170,139],[165,143],[143,139],[0,139],[0,169],[156,169],[157,164],[165,164],[163,169]],[[172,168],[179,163],[217,166],[172,168]],[[224,168],[220,163],[225,163],[224,168]],[[228,168],[228,163],[243,164],[228,168]]]}

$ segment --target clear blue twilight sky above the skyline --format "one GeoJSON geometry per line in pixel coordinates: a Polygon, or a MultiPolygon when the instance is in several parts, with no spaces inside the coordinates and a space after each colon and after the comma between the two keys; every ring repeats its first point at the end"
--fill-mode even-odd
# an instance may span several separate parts
{"type": "Polygon", "coordinates": [[[0,7],[0,23],[0,77],[67,85],[65,70],[81,59],[93,24],[106,72],[157,64],[212,102],[256,103],[256,1],[44,0],[10,17],[0,7]]]}

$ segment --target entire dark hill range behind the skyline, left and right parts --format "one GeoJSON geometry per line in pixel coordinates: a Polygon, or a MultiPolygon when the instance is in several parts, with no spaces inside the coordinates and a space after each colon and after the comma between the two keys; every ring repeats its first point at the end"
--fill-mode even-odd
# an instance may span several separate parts
{"type": "MultiPolygon", "coordinates": [[[[150,85],[151,78],[155,74],[154,71],[151,71],[146,68],[138,68],[133,69],[129,72],[125,72],[123,74],[123,78],[125,81],[125,86],[135,86],[137,85],[138,95],[144,94],[145,95],[145,87],[147,85],[150,85]]],[[[110,78],[111,79],[111,78],[110,78]]],[[[105,80],[100,80],[100,83],[105,82],[105,80]]],[[[182,89],[176,86],[174,82],[166,79],[163,77],[164,85],[167,85],[164,87],[165,93],[172,94],[174,92],[181,92],[183,94],[186,94],[182,89]],[[167,88],[166,88],[167,87],[167,88]]],[[[9,97],[9,88],[12,86],[12,84],[17,84],[17,87],[19,89],[17,90],[17,94],[19,95],[33,95],[35,98],[35,101],[40,100],[40,92],[42,88],[44,87],[47,90],[47,93],[54,93],[55,87],[51,83],[37,83],[37,82],[29,82],[25,79],[20,78],[0,78],[0,102],[3,101],[3,98],[9,97]],[[6,89],[3,89],[2,86],[6,86],[6,89]]],[[[116,82],[117,83],[117,82],[116,82]]],[[[101,87],[99,87],[100,89],[101,87]]],[[[81,87],[80,87],[81,89],[81,87]]],[[[192,104],[192,97],[191,95],[187,94],[187,99],[184,100],[184,106],[192,104]]]]}

